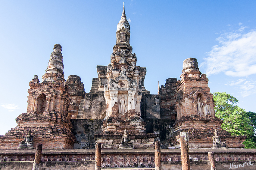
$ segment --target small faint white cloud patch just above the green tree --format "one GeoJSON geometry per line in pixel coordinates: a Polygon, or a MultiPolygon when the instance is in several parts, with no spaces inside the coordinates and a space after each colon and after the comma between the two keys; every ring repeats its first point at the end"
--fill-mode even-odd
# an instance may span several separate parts
{"type": "Polygon", "coordinates": [[[256,82],[253,80],[238,79],[237,81],[231,81],[226,85],[239,88],[239,93],[242,95],[242,97],[256,93],[256,88],[254,88],[256,82]]]}

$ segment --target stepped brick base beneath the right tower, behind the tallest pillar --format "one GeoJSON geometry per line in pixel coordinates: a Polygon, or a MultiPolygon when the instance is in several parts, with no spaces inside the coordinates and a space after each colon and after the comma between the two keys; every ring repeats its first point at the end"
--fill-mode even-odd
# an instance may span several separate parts
{"type": "Polygon", "coordinates": [[[243,148],[242,144],[245,136],[232,136],[226,130],[221,129],[222,120],[215,116],[199,117],[186,116],[176,121],[174,132],[170,136],[169,142],[174,147],[180,147],[180,132],[189,132],[189,148],[212,148],[212,136],[217,129],[221,142],[226,142],[227,148],[243,148]]]}

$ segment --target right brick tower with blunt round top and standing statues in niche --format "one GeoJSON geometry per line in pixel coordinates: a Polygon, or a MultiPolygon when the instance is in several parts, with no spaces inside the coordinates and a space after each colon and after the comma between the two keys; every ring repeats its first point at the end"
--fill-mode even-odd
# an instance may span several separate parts
{"type": "Polygon", "coordinates": [[[180,131],[189,131],[190,148],[211,148],[212,136],[217,129],[229,148],[242,148],[245,136],[231,136],[221,129],[222,120],[214,115],[214,100],[208,79],[199,71],[195,58],[183,61],[181,80],[176,84],[176,122],[171,145],[180,147],[180,131]]]}

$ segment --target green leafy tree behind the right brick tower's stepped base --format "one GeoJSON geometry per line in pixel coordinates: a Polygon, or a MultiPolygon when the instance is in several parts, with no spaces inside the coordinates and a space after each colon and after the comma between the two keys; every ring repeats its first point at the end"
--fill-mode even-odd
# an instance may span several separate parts
{"type": "Polygon", "coordinates": [[[245,148],[256,148],[256,138],[254,136],[256,114],[254,112],[246,112],[237,106],[238,100],[225,92],[214,93],[213,99],[215,101],[215,115],[223,120],[222,129],[231,133],[231,135],[247,136],[243,143],[245,148]]]}

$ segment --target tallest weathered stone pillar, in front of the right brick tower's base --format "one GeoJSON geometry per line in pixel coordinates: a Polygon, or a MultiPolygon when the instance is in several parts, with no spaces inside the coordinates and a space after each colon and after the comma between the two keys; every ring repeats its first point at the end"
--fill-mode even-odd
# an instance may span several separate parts
{"type": "Polygon", "coordinates": [[[180,132],[180,151],[182,170],[190,170],[188,132],[180,132]]]}

